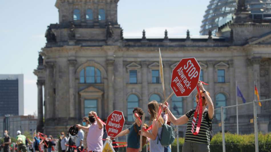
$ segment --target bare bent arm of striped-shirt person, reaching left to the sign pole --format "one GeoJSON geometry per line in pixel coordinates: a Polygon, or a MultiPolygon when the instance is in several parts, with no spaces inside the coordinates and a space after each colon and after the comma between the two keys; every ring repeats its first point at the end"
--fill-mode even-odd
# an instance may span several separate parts
{"type": "Polygon", "coordinates": [[[188,122],[189,118],[186,115],[183,115],[181,117],[179,117],[178,119],[171,113],[171,111],[169,110],[169,108],[164,105],[164,104],[160,104],[160,106],[166,110],[167,112],[167,116],[170,120],[171,123],[173,123],[174,125],[183,125],[185,123],[188,122]]]}

